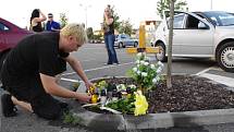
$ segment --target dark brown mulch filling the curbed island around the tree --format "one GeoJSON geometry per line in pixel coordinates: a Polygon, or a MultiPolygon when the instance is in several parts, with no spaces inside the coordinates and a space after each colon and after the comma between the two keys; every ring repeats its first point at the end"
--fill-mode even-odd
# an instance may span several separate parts
{"type": "MultiPolygon", "coordinates": [[[[133,84],[132,80],[124,77],[106,81],[115,84],[133,84]]],[[[163,80],[157,85],[156,91],[149,94],[149,112],[234,108],[234,92],[225,87],[198,76],[174,75],[171,88],[167,87],[167,82],[163,80]]]]}

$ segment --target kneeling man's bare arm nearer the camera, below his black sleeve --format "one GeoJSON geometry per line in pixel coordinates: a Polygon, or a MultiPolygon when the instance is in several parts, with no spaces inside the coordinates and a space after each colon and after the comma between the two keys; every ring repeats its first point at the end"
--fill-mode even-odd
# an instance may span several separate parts
{"type": "Polygon", "coordinates": [[[46,74],[40,73],[40,79],[44,85],[44,88],[46,93],[59,96],[59,97],[64,97],[64,98],[75,98],[82,101],[89,101],[90,96],[84,93],[76,93],[72,92],[70,89],[66,89],[56,83],[56,77],[49,76],[46,74]]]}

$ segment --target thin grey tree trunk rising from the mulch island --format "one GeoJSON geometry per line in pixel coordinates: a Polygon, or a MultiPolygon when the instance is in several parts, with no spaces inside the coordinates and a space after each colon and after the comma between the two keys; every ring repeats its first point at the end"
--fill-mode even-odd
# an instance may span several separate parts
{"type": "Polygon", "coordinates": [[[170,29],[169,29],[169,48],[168,48],[168,79],[167,86],[172,87],[172,43],[173,43],[173,22],[174,22],[174,0],[170,2],[170,29]]]}

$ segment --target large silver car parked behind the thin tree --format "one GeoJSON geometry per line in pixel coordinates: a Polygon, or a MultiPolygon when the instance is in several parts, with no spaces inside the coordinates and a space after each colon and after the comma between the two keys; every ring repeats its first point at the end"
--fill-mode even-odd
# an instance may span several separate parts
{"type": "MultiPolygon", "coordinates": [[[[234,14],[222,11],[175,12],[173,57],[214,58],[227,72],[234,72],[234,14]]],[[[167,61],[169,19],[156,31],[153,46],[160,48],[158,60],[167,61]]]]}

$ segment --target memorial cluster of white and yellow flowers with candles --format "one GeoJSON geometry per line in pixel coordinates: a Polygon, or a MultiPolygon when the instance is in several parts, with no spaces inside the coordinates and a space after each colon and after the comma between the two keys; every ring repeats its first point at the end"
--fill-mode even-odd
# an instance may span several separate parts
{"type": "Polygon", "coordinates": [[[137,53],[135,67],[127,72],[132,79],[130,84],[106,80],[94,82],[95,87],[88,91],[91,94],[91,103],[95,104],[90,105],[91,109],[100,108],[114,113],[134,113],[135,116],[146,115],[148,101],[145,95],[160,81],[162,67],[161,62],[150,63],[146,53],[137,53]]]}

